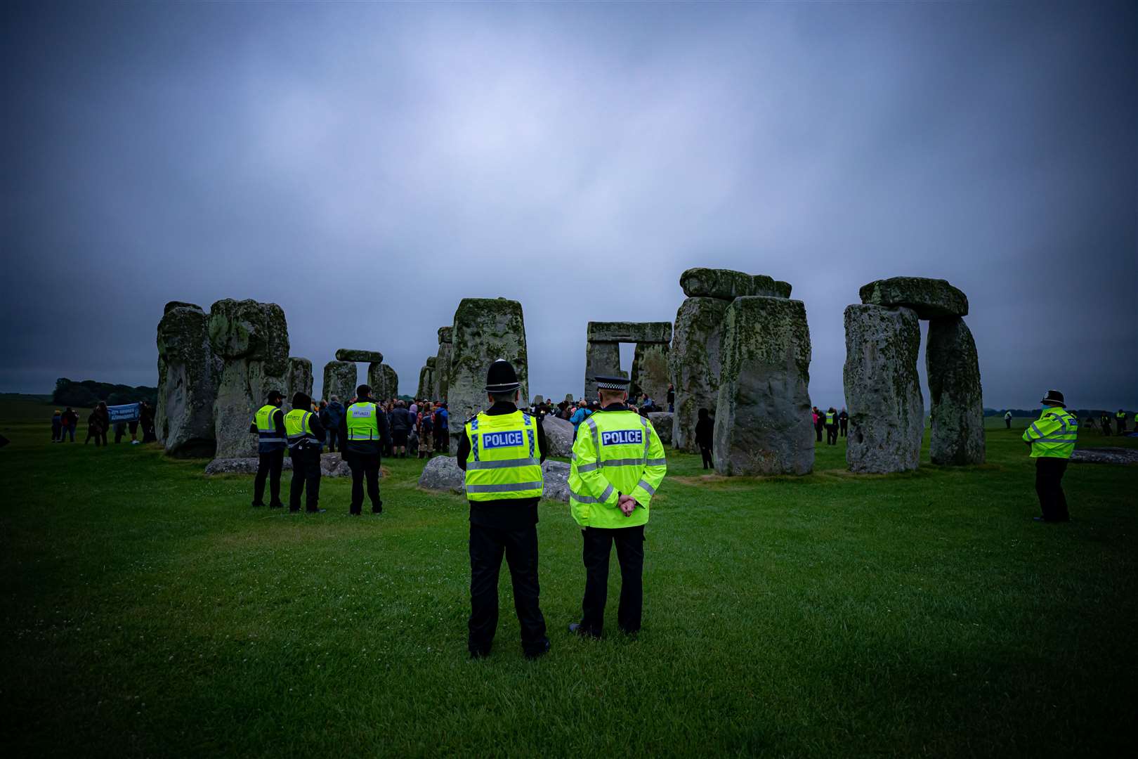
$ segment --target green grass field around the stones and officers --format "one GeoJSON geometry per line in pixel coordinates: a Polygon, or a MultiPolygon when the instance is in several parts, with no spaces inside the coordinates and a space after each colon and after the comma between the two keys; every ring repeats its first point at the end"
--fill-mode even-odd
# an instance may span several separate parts
{"type": "Polygon", "coordinates": [[[467,505],[420,492],[420,462],[385,461],[381,517],[329,479],[328,513],[292,517],[204,461],[50,445],[50,410],[0,402],[7,756],[1133,750],[1138,467],[1073,464],[1075,521],[1036,523],[1023,420],[989,420],[967,469],[858,477],[820,445],[809,477],[728,480],[670,455],[637,640],[615,556],[612,634],[564,632],[580,537],[543,503],[530,662],[505,577],[495,650],[467,659],[467,505]]]}

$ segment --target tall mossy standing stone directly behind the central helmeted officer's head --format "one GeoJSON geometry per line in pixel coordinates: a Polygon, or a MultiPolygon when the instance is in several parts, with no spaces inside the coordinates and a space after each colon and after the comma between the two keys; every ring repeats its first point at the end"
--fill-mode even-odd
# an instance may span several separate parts
{"type": "Polygon", "coordinates": [[[529,404],[526,322],[521,304],[506,298],[463,298],[454,312],[454,343],[448,371],[447,405],[451,437],[486,401],[486,370],[498,360],[513,364],[521,382],[519,405],[529,404]]]}

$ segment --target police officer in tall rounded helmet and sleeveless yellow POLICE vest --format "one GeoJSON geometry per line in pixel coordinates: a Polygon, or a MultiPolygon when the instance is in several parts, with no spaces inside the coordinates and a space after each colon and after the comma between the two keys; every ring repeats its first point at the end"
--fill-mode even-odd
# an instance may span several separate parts
{"type": "Polygon", "coordinates": [[[513,583],[522,651],[536,659],[550,650],[545,617],[537,603],[537,502],[542,497],[545,432],[533,416],[518,411],[520,387],[510,362],[490,364],[486,394],[492,405],[467,420],[459,438],[457,463],[467,472],[470,502],[467,646],[476,659],[489,653],[497,629],[503,553],[513,583]]]}

